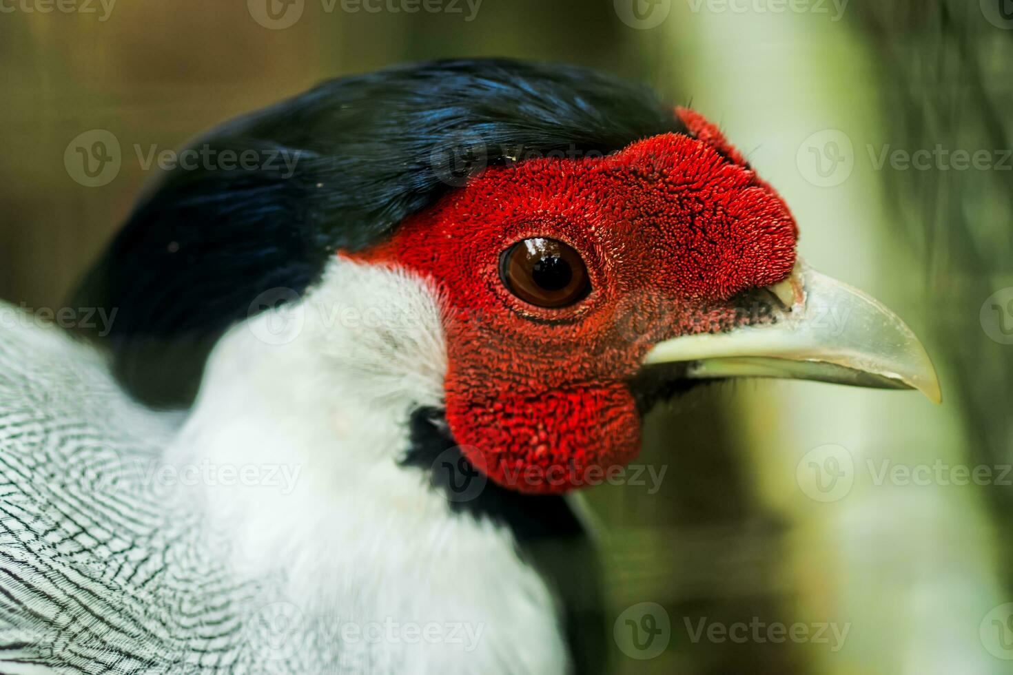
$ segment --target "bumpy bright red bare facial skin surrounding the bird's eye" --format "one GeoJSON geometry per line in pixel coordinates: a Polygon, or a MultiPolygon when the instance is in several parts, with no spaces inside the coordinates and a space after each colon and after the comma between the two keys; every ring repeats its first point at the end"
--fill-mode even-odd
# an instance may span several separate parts
{"type": "Polygon", "coordinates": [[[493,481],[564,492],[629,461],[640,419],[627,382],[652,344],[743,321],[735,293],[788,276],[796,228],[780,197],[702,117],[604,158],[489,168],[352,256],[432,278],[445,299],[446,414],[493,481]],[[569,307],[514,294],[516,243],[547,238],[582,258],[591,290],[569,307]]]}

